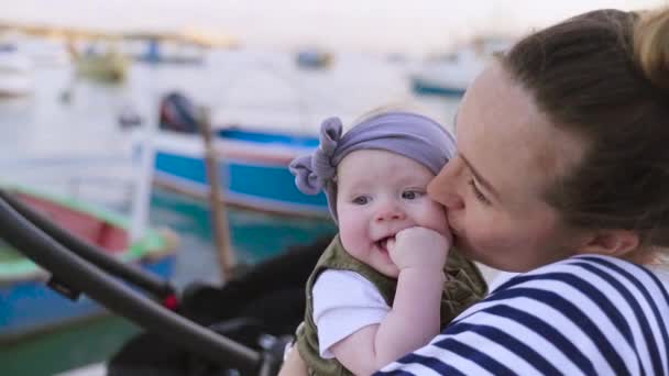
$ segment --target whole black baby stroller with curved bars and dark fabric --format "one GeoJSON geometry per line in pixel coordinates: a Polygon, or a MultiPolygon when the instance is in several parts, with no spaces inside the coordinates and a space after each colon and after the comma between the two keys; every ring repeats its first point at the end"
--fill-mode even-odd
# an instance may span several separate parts
{"type": "Polygon", "coordinates": [[[1,239],[52,273],[52,288],[85,292],[145,329],[112,357],[109,375],[276,375],[303,319],[306,279],[330,241],[292,248],[222,288],[194,284],[175,307],[169,284],[107,256],[2,190],[0,223],[1,239]]]}

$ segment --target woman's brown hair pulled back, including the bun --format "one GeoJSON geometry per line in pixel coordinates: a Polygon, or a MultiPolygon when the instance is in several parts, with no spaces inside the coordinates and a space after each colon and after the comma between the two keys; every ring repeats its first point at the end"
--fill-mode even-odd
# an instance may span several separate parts
{"type": "Polygon", "coordinates": [[[500,57],[555,126],[585,140],[547,201],[569,225],[669,246],[669,10],[597,10],[500,57]]]}

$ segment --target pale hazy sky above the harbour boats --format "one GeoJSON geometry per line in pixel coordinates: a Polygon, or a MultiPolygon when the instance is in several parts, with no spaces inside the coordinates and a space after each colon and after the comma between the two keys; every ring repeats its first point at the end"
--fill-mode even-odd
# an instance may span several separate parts
{"type": "Polygon", "coordinates": [[[246,45],[439,52],[472,34],[519,34],[597,8],[667,0],[0,0],[0,21],[108,30],[202,29],[246,45]]]}

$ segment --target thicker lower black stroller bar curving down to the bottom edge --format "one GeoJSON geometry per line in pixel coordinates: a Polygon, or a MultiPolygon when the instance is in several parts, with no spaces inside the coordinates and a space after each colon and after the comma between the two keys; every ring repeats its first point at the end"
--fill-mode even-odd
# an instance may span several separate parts
{"type": "Polygon", "coordinates": [[[0,237],[57,276],[66,286],[79,289],[91,299],[138,325],[184,346],[208,361],[240,371],[242,375],[273,375],[277,360],[255,352],[202,328],[68,251],[0,197],[0,237]]]}

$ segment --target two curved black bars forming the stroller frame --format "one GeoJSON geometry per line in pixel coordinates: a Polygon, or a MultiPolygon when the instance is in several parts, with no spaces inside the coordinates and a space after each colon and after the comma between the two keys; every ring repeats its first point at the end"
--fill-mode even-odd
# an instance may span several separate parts
{"type": "MultiPolygon", "coordinates": [[[[66,296],[85,292],[110,311],[198,354],[212,364],[238,369],[242,375],[276,375],[281,367],[276,343],[254,351],[161,306],[114,277],[158,299],[174,296],[165,281],[133,265],[122,264],[0,189],[0,237],[50,273],[50,286],[66,296]]],[[[281,341],[277,341],[281,342],[281,341]]]]}

